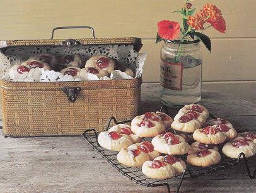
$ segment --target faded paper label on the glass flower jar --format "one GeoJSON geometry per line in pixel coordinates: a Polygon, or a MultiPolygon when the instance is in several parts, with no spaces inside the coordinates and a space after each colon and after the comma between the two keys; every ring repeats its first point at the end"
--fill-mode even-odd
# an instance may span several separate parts
{"type": "Polygon", "coordinates": [[[162,87],[182,91],[182,63],[161,61],[160,84],[162,87]]]}

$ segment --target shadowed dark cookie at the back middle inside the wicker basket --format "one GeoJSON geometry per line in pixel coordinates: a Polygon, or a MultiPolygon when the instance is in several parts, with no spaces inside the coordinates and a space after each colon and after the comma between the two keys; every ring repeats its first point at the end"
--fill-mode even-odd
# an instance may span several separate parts
{"type": "Polygon", "coordinates": [[[83,68],[82,58],[79,55],[63,55],[60,59],[62,67],[79,67],[83,68]]]}

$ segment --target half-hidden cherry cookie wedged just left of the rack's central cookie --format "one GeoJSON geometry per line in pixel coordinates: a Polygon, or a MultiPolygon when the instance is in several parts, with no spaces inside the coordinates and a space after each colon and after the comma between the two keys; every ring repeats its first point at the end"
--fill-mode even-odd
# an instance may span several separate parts
{"type": "Polygon", "coordinates": [[[141,152],[148,153],[149,160],[154,160],[154,158],[159,157],[161,155],[160,152],[154,150],[154,146],[149,141],[143,141],[141,143],[136,143],[131,146],[137,147],[139,150],[141,150],[141,152]]]}

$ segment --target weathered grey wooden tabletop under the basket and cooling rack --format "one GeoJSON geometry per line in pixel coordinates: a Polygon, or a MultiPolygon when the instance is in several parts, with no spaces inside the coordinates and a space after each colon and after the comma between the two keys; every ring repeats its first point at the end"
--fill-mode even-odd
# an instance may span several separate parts
{"type": "MultiPolygon", "coordinates": [[[[159,84],[143,84],[142,112],[160,108],[159,92],[159,84]]],[[[209,91],[203,91],[201,104],[238,131],[256,130],[255,104],[209,91]]],[[[4,138],[1,134],[0,146],[0,192],[166,192],[166,187],[132,182],[79,136],[4,138]]],[[[177,179],[170,180],[172,190],[177,185],[177,179]]],[[[240,164],[185,179],[180,192],[185,191],[255,192],[256,179],[249,179],[240,164]]]]}

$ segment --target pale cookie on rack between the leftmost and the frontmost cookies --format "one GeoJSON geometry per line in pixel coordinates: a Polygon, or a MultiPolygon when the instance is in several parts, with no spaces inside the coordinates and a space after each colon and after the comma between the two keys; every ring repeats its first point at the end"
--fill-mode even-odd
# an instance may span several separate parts
{"type": "Polygon", "coordinates": [[[122,148],[117,154],[117,160],[119,163],[129,167],[139,167],[143,165],[144,162],[150,160],[148,153],[145,153],[136,145],[128,146],[127,149],[122,148]]]}

